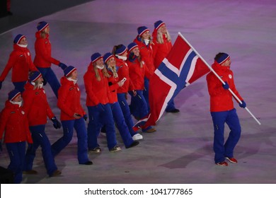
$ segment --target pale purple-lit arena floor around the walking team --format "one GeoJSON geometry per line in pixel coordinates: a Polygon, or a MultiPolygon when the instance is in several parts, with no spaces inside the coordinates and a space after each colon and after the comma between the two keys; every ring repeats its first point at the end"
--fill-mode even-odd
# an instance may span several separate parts
{"type": "MultiPolygon", "coordinates": [[[[38,149],[34,169],[39,175],[24,176],[25,183],[272,183],[276,182],[276,2],[275,1],[91,1],[21,25],[0,35],[0,70],[3,71],[18,33],[28,38],[35,57],[35,25],[50,23],[52,56],[79,71],[81,103],[86,93],[82,76],[94,52],[110,52],[113,45],[128,45],[137,27],[151,31],[155,21],[166,22],[173,42],[182,33],[202,57],[212,64],[217,52],[231,55],[236,88],[261,125],[236,104],[242,136],[235,150],[238,164],[214,165],[212,120],[205,76],[176,97],[178,114],[164,114],[154,134],[143,134],[139,146],[110,153],[105,138],[99,137],[103,152],[89,154],[93,165],[76,160],[76,135],[56,158],[61,177],[47,177],[38,149]]],[[[58,78],[63,73],[52,66],[58,78]]],[[[0,91],[3,109],[13,88],[11,72],[0,91]]],[[[59,117],[57,99],[45,87],[49,103],[59,117]]],[[[85,107],[86,108],[86,107],[85,107]]],[[[46,127],[51,142],[62,136],[62,129],[46,127]]],[[[229,130],[226,128],[226,134],[229,130]]],[[[0,165],[9,158],[4,146],[0,165]]]]}

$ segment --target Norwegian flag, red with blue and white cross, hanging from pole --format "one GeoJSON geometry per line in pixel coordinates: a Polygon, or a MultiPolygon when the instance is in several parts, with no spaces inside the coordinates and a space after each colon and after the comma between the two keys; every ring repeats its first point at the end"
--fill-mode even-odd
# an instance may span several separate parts
{"type": "Polygon", "coordinates": [[[133,127],[139,128],[155,125],[163,115],[170,100],[178,93],[209,72],[209,67],[192,50],[192,47],[178,35],[171,51],[154,71],[149,81],[150,114],[139,120],[133,127]]]}

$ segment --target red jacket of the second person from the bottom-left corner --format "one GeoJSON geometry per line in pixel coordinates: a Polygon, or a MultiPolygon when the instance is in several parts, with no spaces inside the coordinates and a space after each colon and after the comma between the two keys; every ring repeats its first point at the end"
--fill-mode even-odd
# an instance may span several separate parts
{"type": "Polygon", "coordinates": [[[29,126],[46,124],[47,116],[52,119],[54,113],[47,102],[44,88],[33,88],[31,83],[26,83],[23,92],[23,108],[28,116],[29,126]]]}

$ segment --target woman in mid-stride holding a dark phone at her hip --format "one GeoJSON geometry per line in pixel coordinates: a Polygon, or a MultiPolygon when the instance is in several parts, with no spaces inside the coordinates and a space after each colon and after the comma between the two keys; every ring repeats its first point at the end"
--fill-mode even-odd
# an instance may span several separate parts
{"type": "Polygon", "coordinates": [[[61,110],[60,120],[62,121],[63,136],[52,144],[54,156],[62,151],[73,138],[74,129],[78,137],[78,160],[79,164],[93,164],[88,159],[87,153],[87,130],[84,120],[87,119],[86,112],[81,106],[81,91],[76,83],[78,73],[74,66],[67,66],[64,69],[64,76],[60,82],[59,98],[57,107],[61,110]]]}

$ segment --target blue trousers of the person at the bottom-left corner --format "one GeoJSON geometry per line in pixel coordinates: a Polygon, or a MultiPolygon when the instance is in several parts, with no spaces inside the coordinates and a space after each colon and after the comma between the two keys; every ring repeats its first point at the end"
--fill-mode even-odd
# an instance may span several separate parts
{"type": "Polygon", "coordinates": [[[25,161],[25,141],[16,143],[6,143],[8,156],[10,157],[10,164],[8,170],[14,173],[14,183],[20,184],[22,181],[22,171],[25,161]]]}

